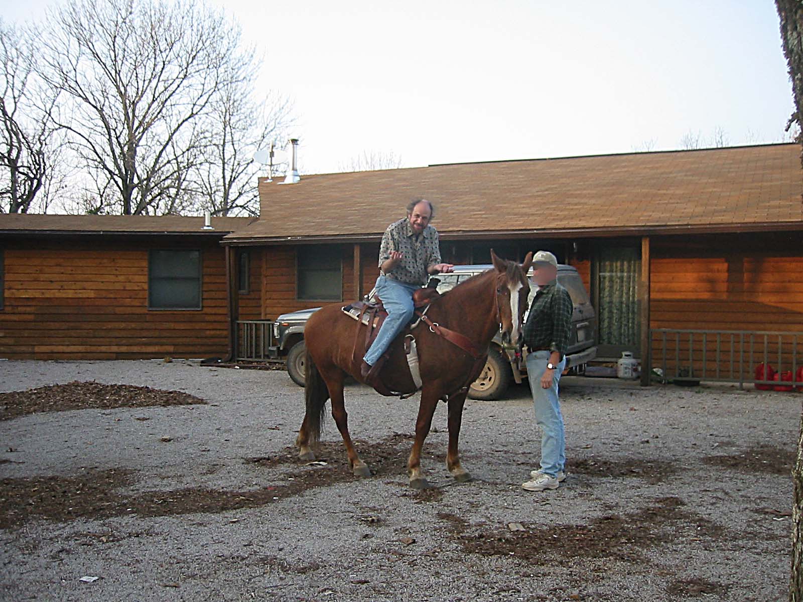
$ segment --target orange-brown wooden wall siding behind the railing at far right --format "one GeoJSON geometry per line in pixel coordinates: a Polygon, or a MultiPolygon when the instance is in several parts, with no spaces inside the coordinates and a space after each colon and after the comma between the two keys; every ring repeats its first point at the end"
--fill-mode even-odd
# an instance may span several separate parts
{"type": "MultiPolygon", "coordinates": [[[[683,243],[652,238],[650,261],[650,327],[693,330],[803,332],[803,240],[800,234],[753,234],[699,237],[683,243]]],[[[681,367],[687,367],[689,336],[666,340],[666,367],[675,371],[676,347],[681,367]]],[[[695,371],[703,362],[703,340],[691,345],[695,371]]],[[[775,368],[792,366],[792,345],[769,337],[768,360],[775,368]]],[[[711,376],[717,362],[715,336],[707,336],[706,365],[711,376]]],[[[730,337],[722,336],[720,374],[730,371],[730,337]],[[726,359],[727,358],[727,359],[726,359]]],[[[739,337],[735,340],[738,348],[739,337]]],[[[653,336],[653,366],[661,365],[662,337],[653,336]]],[[[752,364],[744,349],[748,377],[763,361],[763,338],[756,339],[752,364]],[[749,365],[748,365],[749,364],[749,365]]],[[[739,357],[734,358],[738,362],[739,357]]],[[[803,365],[803,348],[796,350],[803,365]]]]}

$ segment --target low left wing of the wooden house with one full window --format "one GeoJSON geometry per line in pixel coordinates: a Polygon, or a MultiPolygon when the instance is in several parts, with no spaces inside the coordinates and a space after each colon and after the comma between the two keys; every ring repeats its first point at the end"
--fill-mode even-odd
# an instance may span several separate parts
{"type": "MultiPolygon", "coordinates": [[[[0,215],[0,357],[225,356],[230,250],[220,242],[249,221],[0,215]]],[[[259,303],[256,281],[237,286],[244,310],[259,303]]]]}

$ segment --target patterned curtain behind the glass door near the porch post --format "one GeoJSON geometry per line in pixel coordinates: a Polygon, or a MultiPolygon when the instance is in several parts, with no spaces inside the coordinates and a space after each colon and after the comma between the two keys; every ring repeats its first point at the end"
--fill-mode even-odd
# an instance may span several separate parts
{"type": "Polygon", "coordinates": [[[638,249],[601,250],[597,307],[600,344],[638,344],[638,275],[641,263],[638,249]]]}

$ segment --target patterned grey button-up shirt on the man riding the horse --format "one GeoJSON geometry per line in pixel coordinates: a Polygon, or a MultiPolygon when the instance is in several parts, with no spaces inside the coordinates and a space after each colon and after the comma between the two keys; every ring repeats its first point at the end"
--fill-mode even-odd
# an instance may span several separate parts
{"type": "Polygon", "coordinates": [[[415,234],[408,218],[393,222],[382,236],[379,247],[379,266],[390,258],[391,251],[404,254],[401,262],[385,275],[400,283],[426,284],[427,268],[441,262],[438,230],[426,226],[421,234],[415,234]]]}

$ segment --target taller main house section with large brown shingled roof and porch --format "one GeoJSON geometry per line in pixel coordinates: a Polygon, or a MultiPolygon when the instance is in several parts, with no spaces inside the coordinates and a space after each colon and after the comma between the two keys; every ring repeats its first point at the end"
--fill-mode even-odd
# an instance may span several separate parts
{"type": "Polygon", "coordinates": [[[767,340],[776,365],[803,364],[787,336],[803,333],[801,174],[797,144],[768,144],[263,178],[263,219],[223,244],[261,255],[259,317],[275,319],[369,291],[385,227],[426,197],[444,261],[547,249],[577,267],[602,359],[649,348],[668,372],[705,357],[734,380],[728,362],[752,370],[767,340]]]}

